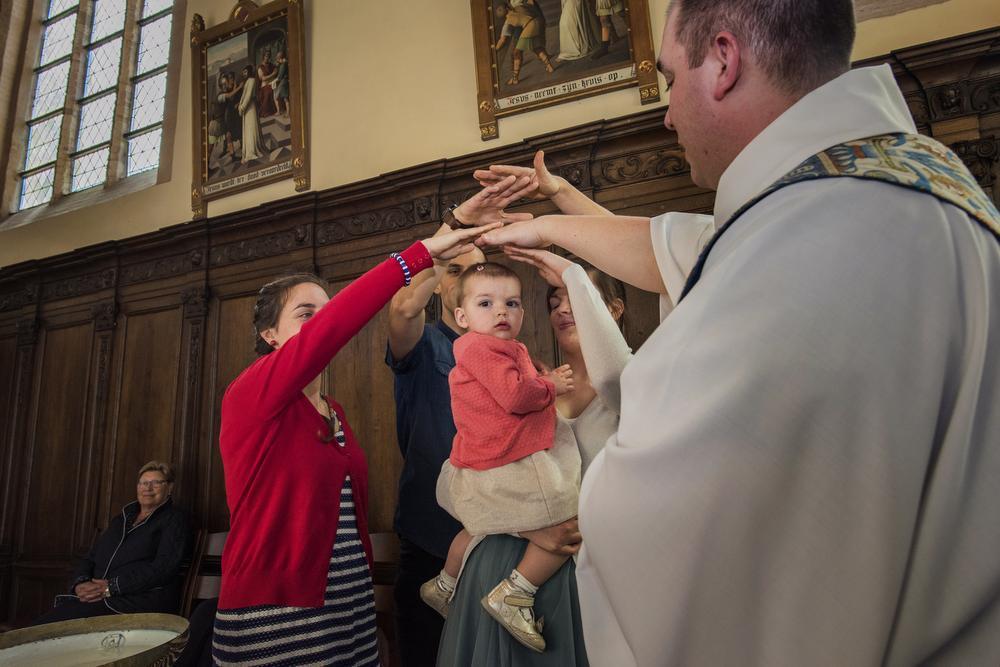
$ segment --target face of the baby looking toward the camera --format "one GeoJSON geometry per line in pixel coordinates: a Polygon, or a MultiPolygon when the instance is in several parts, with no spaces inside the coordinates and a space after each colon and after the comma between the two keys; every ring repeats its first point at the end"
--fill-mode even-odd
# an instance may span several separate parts
{"type": "Polygon", "coordinates": [[[464,287],[462,305],[455,310],[459,326],[504,340],[517,338],[524,321],[519,281],[473,278],[464,287]]]}

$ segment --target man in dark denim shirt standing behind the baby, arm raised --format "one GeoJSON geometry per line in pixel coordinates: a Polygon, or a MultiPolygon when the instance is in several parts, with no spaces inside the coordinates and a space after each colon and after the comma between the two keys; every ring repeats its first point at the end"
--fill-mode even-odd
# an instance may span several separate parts
{"type": "MultiPolygon", "coordinates": [[[[439,234],[472,224],[527,219],[505,214],[504,206],[521,197],[529,178],[511,176],[484,188],[461,206],[448,210],[439,234]],[[517,187],[512,187],[517,186],[517,187]],[[496,193],[506,192],[502,198],[496,193]]],[[[452,343],[462,333],[455,323],[458,277],[466,267],[486,261],[478,248],[445,264],[435,263],[393,297],[389,305],[389,344],[385,363],[395,375],[396,435],[403,455],[396,505],[399,574],[396,578],[396,625],[403,664],[433,665],[443,622],[420,599],[420,585],[444,567],[448,546],[462,526],[437,503],[435,487],[441,465],[451,454],[455,423],[451,416],[448,373],[455,366],[452,343]],[[437,294],[441,317],[427,324],[425,308],[437,294]]]]}

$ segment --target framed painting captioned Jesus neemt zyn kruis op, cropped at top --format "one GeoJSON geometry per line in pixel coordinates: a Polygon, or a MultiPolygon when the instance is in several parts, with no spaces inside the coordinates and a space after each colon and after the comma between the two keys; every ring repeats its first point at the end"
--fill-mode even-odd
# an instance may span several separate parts
{"type": "Polygon", "coordinates": [[[660,100],[646,0],[471,0],[483,141],[497,119],[619,88],[660,100]]]}

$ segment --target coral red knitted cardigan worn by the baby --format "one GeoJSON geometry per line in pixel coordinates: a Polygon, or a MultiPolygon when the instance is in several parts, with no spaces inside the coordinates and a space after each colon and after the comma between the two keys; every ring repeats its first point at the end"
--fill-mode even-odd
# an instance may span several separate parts
{"type": "Polygon", "coordinates": [[[516,340],[469,332],[448,375],[455,440],[451,464],[489,470],[552,447],[556,386],[516,340]]]}

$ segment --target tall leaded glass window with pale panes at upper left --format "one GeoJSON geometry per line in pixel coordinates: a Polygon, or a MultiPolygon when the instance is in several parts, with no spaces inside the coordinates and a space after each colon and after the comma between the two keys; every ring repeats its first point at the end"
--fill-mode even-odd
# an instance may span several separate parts
{"type": "Polygon", "coordinates": [[[159,167],[173,4],[49,0],[17,209],[159,167]]]}

